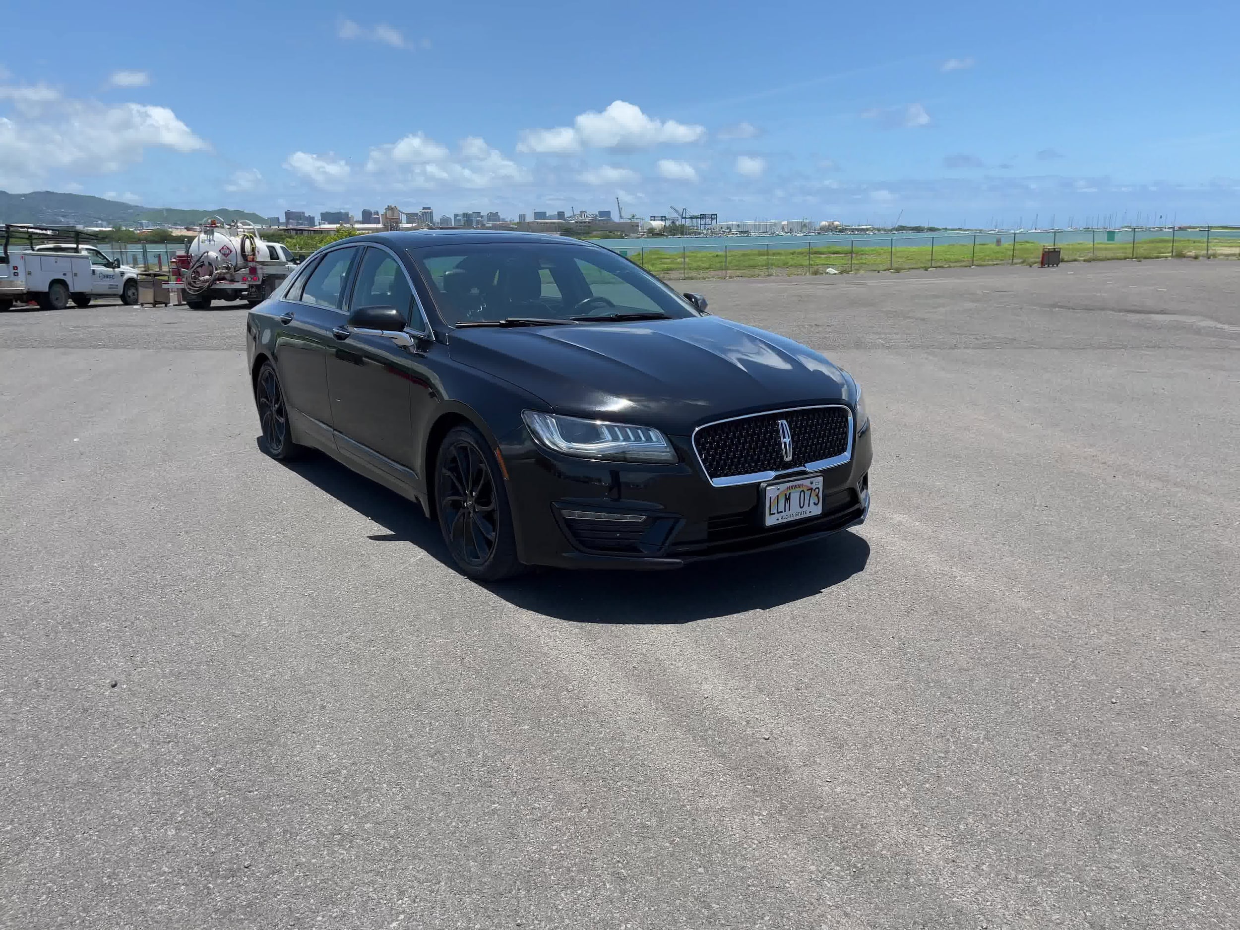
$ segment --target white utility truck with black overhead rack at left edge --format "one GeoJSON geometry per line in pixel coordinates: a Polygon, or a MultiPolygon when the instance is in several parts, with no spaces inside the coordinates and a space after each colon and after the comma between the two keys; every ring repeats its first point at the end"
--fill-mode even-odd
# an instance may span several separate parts
{"type": "Polygon", "coordinates": [[[0,310],[30,300],[43,310],[63,310],[71,300],[87,306],[100,296],[136,304],[138,269],[83,246],[83,238],[92,237],[77,229],[6,223],[0,249],[0,310]],[[55,241],[69,237],[73,242],[55,241]],[[17,250],[16,238],[25,238],[27,248],[17,250]]]}

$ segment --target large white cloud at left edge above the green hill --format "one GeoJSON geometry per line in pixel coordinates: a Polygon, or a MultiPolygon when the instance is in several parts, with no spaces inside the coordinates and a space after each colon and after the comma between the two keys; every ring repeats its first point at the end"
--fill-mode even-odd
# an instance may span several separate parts
{"type": "Polygon", "coordinates": [[[37,184],[52,172],[110,174],[134,165],[146,149],[182,154],[210,146],[166,107],[77,100],[36,84],[0,87],[0,186],[37,184]]]}

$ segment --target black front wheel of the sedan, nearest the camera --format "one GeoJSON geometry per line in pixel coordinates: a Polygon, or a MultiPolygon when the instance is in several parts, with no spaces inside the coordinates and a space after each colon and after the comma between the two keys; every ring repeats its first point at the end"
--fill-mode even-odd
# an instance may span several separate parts
{"type": "Polygon", "coordinates": [[[466,575],[497,582],[521,573],[503,479],[472,427],[454,428],[439,446],[435,511],[448,551],[466,575]]]}

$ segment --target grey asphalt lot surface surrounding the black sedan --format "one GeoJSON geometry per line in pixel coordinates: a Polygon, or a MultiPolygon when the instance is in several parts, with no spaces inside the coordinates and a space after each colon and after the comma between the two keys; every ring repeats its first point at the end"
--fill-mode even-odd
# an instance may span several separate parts
{"type": "Polygon", "coordinates": [[[0,315],[0,925],[1240,925],[1240,262],[697,286],[864,527],[484,588],[243,310],[0,315]]]}

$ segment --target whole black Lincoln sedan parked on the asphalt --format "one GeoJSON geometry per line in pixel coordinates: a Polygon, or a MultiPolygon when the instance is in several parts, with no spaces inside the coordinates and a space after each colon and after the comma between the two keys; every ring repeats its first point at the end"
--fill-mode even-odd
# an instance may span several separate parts
{"type": "Polygon", "coordinates": [[[675,568],[869,510],[861,388],[616,253],[425,231],[325,246],[247,320],[263,445],[419,502],[460,569],[675,568]]]}

